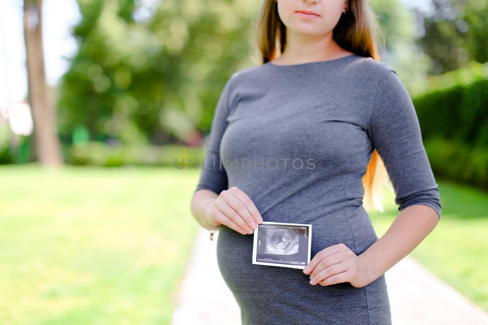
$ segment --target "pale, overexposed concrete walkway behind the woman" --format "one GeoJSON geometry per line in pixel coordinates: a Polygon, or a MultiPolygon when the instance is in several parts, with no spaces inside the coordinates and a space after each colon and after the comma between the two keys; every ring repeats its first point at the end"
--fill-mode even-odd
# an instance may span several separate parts
{"type": "MultiPolygon", "coordinates": [[[[172,325],[241,324],[234,296],[217,266],[216,244],[200,228],[172,325]]],[[[488,325],[488,314],[407,256],[385,273],[393,325],[488,325]]]]}

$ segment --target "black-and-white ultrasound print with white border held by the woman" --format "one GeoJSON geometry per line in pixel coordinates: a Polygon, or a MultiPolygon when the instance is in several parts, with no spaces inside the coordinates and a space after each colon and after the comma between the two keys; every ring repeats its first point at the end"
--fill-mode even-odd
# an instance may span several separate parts
{"type": "Polygon", "coordinates": [[[310,262],[312,225],[264,221],[254,230],[252,264],[305,268],[310,262]]]}

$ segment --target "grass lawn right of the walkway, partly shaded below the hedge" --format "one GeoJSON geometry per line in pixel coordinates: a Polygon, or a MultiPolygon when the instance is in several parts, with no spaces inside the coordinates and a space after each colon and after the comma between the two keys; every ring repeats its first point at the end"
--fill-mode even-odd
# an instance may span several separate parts
{"type": "MultiPolygon", "coordinates": [[[[436,179],[442,217],[410,256],[488,311],[488,193],[436,179]]],[[[385,213],[369,212],[381,237],[398,215],[394,194],[385,188],[385,213]]]]}

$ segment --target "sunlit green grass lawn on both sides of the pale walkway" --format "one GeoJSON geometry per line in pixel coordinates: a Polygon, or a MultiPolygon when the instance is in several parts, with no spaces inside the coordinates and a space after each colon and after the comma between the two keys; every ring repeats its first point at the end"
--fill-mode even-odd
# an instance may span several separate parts
{"type": "MultiPolygon", "coordinates": [[[[0,324],[169,324],[199,173],[1,166],[0,324]]],[[[442,219],[411,255],[488,311],[488,194],[437,182],[442,219]]],[[[378,236],[398,213],[384,193],[378,236]]]]}

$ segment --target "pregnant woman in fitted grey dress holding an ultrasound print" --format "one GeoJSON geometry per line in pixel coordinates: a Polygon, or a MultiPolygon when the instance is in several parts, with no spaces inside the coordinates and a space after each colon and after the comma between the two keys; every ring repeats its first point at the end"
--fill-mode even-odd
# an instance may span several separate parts
{"type": "Polygon", "coordinates": [[[192,214],[219,230],[244,325],[391,324],[384,273],[441,203],[412,101],[379,61],[375,16],[366,0],[264,0],[257,27],[263,64],[224,86],[192,214]],[[399,213],[378,238],[366,209],[386,175],[399,213]],[[252,264],[263,220],[312,224],[304,270],[252,264]]]}

